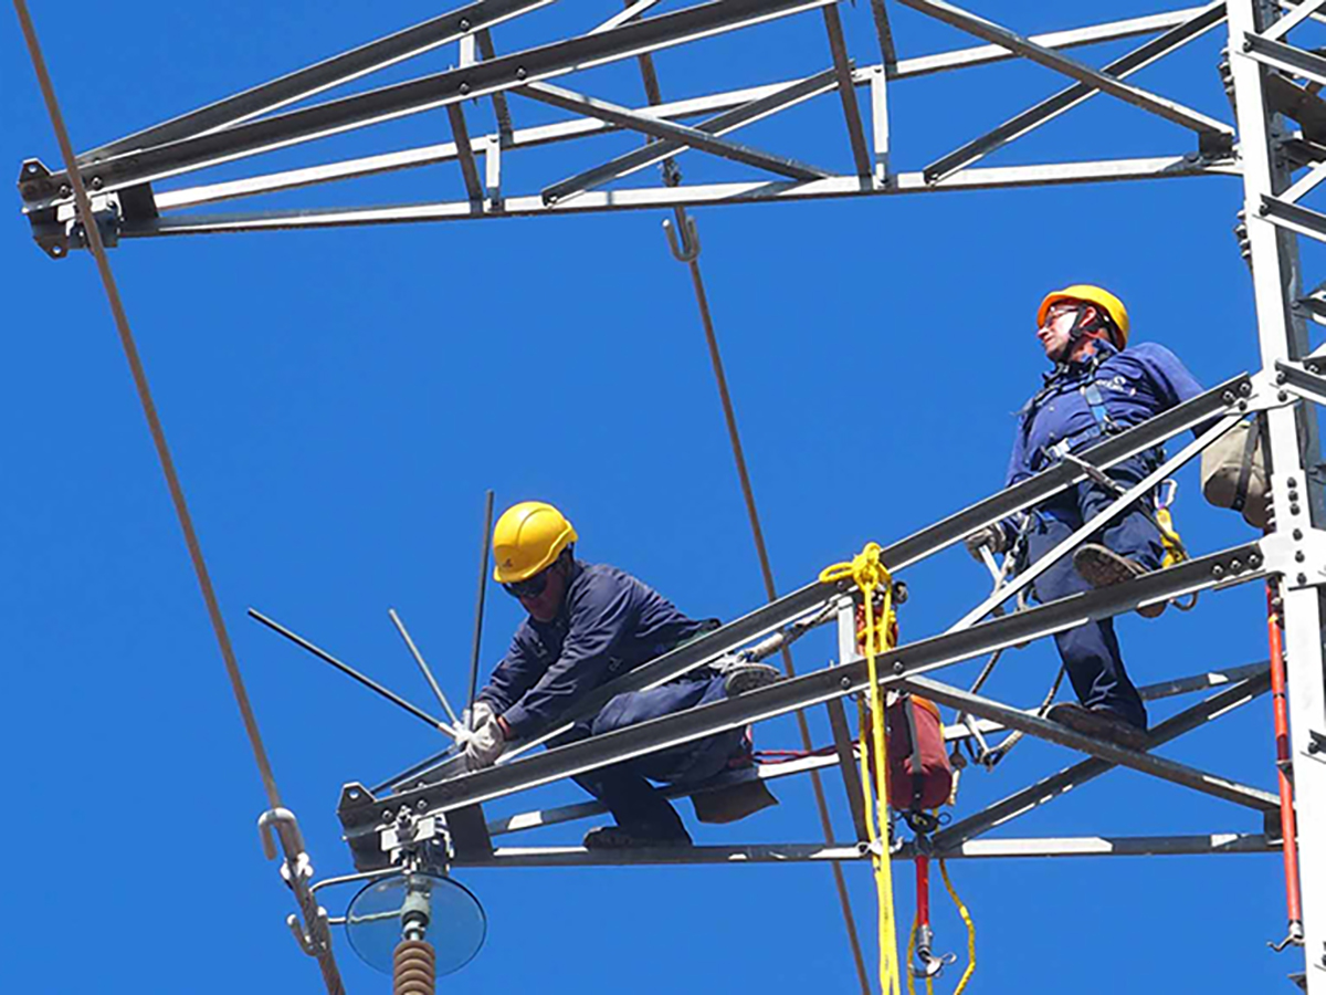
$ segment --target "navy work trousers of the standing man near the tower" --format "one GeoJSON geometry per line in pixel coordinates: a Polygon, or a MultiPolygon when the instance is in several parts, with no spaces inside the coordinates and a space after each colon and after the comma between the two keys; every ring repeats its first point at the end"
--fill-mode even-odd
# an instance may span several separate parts
{"type": "MultiPolygon", "coordinates": [[[[1146,476],[1152,466],[1155,464],[1146,456],[1136,456],[1111,467],[1109,474],[1124,487],[1132,487],[1146,476]]],[[[1029,561],[1034,564],[1045,556],[1071,532],[1081,528],[1087,519],[1113,501],[1115,496],[1110,488],[1087,480],[1040,505],[1033,512],[1028,533],[1029,561]]],[[[1130,507],[1087,541],[1099,543],[1120,556],[1135,560],[1148,570],[1159,569],[1164,557],[1160,532],[1138,504],[1130,507]]],[[[1091,585],[1074,569],[1071,553],[1041,574],[1034,586],[1036,596],[1042,602],[1091,590],[1091,585]]],[[[1073,690],[1082,704],[1089,708],[1105,706],[1134,726],[1146,728],[1146,706],[1143,706],[1138,689],[1132,686],[1123,669],[1123,657],[1119,653],[1119,639],[1114,634],[1113,618],[1087,622],[1062,631],[1054,637],[1054,642],[1058,645],[1059,657],[1063,659],[1069,679],[1073,682],[1073,690]]]]}

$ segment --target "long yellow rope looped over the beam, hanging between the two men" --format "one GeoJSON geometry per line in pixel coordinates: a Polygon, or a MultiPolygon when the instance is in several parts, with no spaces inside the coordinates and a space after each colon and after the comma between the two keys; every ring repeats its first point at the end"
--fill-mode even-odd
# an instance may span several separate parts
{"type": "Polygon", "coordinates": [[[870,720],[866,706],[858,703],[861,722],[861,789],[866,800],[866,825],[871,842],[871,862],[875,869],[875,890],[879,899],[879,986],[890,995],[899,995],[898,926],[894,922],[894,874],[888,852],[888,743],[884,735],[884,704],[879,693],[879,671],[875,657],[887,653],[892,631],[892,578],[879,559],[878,543],[867,543],[850,563],[825,568],[819,580],[833,584],[851,580],[862,593],[866,605],[866,669],[870,678],[870,720]],[[884,606],[875,620],[875,590],[882,588],[884,606]],[[869,728],[867,728],[869,727],[869,728]],[[869,739],[867,739],[869,734],[869,739]],[[867,747],[874,747],[873,750],[867,747]],[[875,777],[871,781],[867,755],[874,755],[875,777]],[[873,791],[873,784],[878,792],[873,791]]]}

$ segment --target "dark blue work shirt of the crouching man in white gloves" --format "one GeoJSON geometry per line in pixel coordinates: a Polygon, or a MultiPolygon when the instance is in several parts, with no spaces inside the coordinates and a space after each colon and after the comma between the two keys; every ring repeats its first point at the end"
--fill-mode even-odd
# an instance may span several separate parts
{"type": "Polygon", "coordinates": [[[537,735],[582,695],[715,625],[682,614],[626,570],[575,560],[557,617],[520,624],[479,700],[514,736],[537,735]]]}

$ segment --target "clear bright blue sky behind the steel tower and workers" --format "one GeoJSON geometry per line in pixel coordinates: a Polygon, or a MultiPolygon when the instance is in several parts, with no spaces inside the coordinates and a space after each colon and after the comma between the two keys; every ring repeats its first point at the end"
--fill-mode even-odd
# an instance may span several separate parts
{"type": "MultiPolygon", "coordinates": [[[[676,7],[667,4],[663,9],[676,7]]],[[[1004,3],[983,13],[1026,32],[1101,19],[1099,5],[1004,3]]],[[[1151,13],[1138,0],[1111,17],[1151,13]]],[[[424,20],[442,8],[290,0],[36,9],[74,145],[86,149],[424,20]]],[[[564,3],[495,31],[512,50],[585,31],[617,8],[564,3]]],[[[842,8],[850,46],[876,61],[869,4],[842,8]]],[[[911,12],[903,56],[972,44],[911,12]]],[[[1216,74],[1224,29],[1136,81],[1229,118],[1216,74]]],[[[1083,52],[1102,64],[1130,42],[1083,52]]],[[[436,72],[439,50],[383,80],[436,72]]],[[[818,15],[658,60],[670,98],[817,72],[818,15]]],[[[58,159],[17,24],[0,32],[4,155],[58,159]]],[[[639,103],[633,65],[568,85],[639,103]]],[[[916,170],[1059,89],[1036,66],[992,66],[892,88],[896,166],[916,170]]],[[[557,117],[513,98],[518,125],[557,117]]],[[[471,130],[487,130],[472,106],[471,130]]],[[[281,168],[447,141],[432,111],[256,161],[281,168]]],[[[837,98],[740,133],[741,141],[846,170],[837,98]]],[[[533,192],[633,146],[630,137],[508,161],[533,192]]],[[[1097,98],[991,165],[1187,153],[1180,129],[1097,98]]],[[[252,163],[215,171],[243,175],[252,163]]],[[[688,153],[687,182],[749,175],[688,153]]],[[[655,183],[646,171],[631,184],[655,183]]],[[[179,183],[162,184],[163,188],[179,183]]],[[[255,202],[339,206],[459,199],[455,163],[255,202]]],[[[996,490],[1012,413],[1044,360],[1042,293],[1094,281],[1132,313],[1136,340],[1179,353],[1204,383],[1257,361],[1250,284],[1229,232],[1233,178],[870,198],[696,212],[701,264],[782,589],[867,540],[888,543],[996,490]]],[[[46,259],[11,202],[0,239],[9,288],[0,626],[11,675],[0,744],[11,758],[5,990],[316,991],[314,964],[282,919],[293,903],[263,860],[263,795],[243,739],[123,357],[85,255],[46,259]],[[77,954],[70,954],[77,950],[77,954]],[[66,967],[68,966],[68,967],[66,967]],[[187,982],[182,982],[187,979],[187,982]]],[[[244,206],[240,206],[244,207],[244,206]]],[[[349,870],[334,807],[439,748],[422,723],[370,696],[244,617],[256,606],[420,704],[428,693],[387,620],[395,606],[444,687],[461,696],[484,488],[499,508],[560,504],[581,555],[640,576],[680,608],[732,618],[762,600],[703,334],[659,212],[324,232],[126,241],[113,264],[190,496],[217,592],[288,804],[320,874],[349,870]]],[[[1314,261],[1307,256],[1307,263],[1314,261]]],[[[1309,276],[1311,268],[1307,268],[1309,276]]],[[[1244,541],[1180,475],[1177,524],[1196,551],[1244,541]]],[[[904,638],[941,630],[988,577],[949,551],[906,578],[904,638]]],[[[484,661],[518,606],[493,589],[484,661]]],[[[1197,610],[1119,622],[1139,683],[1265,657],[1254,586],[1197,610]]],[[[798,666],[823,666],[831,637],[798,666]]],[[[1008,654],[989,690],[1030,704],[1053,647],[1008,654]]],[[[973,665],[947,674],[971,679],[973,665]]],[[[1155,706],[1163,718],[1184,702],[1155,706]]],[[[825,723],[815,718],[821,742],[825,723]]],[[[758,731],[794,747],[790,719],[758,731]]],[[[1269,700],[1164,750],[1273,788],[1269,700]]],[[[1021,746],[969,772],[959,815],[1071,758],[1021,746]]],[[[839,832],[845,805],[833,777],[839,832]]],[[[814,841],[809,784],[699,842],[814,841]]],[[[554,785],[492,805],[578,797],[554,785]]],[[[690,811],[687,808],[687,817],[690,811]]],[[[572,841],[583,825],[537,841],[572,841]]],[[[1244,809],[1114,772],[1002,830],[1010,836],[1256,832],[1244,809]]],[[[899,918],[911,918],[899,866],[899,918]]],[[[1252,990],[1297,970],[1264,941],[1284,934],[1280,858],[955,862],[976,918],[971,992],[1252,990]]],[[[489,941],[446,991],[499,986],[639,995],[850,991],[854,976],[821,866],[461,872],[489,941]]],[[[874,897],[849,868],[869,939],[874,897]]],[[[349,893],[329,899],[333,913],[349,893]]],[[[937,946],[961,923],[936,890],[937,946]]],[[[338,941],[351,992],[389,982],[338,941]]],[[[873,953],[867,954],[874,959],[873,953]]],[[[956,976],[956,975],[955,975],[956,976]]],[[[940,991],[949,991],[955,976],[940,991]]]]}

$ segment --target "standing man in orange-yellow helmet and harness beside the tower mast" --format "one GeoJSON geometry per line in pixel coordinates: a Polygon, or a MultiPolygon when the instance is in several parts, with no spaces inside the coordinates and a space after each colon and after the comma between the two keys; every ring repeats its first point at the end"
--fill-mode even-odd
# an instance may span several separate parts
{"type": "MultiPolygon", "coordinates": [[[[1078,284],[1055,291],[1041,301],[1036,321],[1036,336],[1054,369],[1018,413],[1005,487],[1201,393],[1197,381],[1164,346],[1128,346],[1128,312],[1106,289],[1078,284]]],[[[1163,459],[1156,447],[1106,472],[1128,488],[1163,459]]],[[[1034,564],[1116,496],[1102,483],[1083,480],[1030,509],[1021,525],[1005,519],[975,532],[967,537],[967,549],[981,559],[981,547],[1009,552],[1022,545],[1017,540],[1025,536],[1025,549],[1017,552],[1034,564]]],[[[1159,569],[1166,551],[1155,517],[1148,513],[1150,500],[1143,498],[1093,535],[1071,561],[1065,557],[1041,574],[1034,584],[1037,598],[1054,601],[1159,569]]],[[[1148,605],[1139,614],[1154,618],[1164,608],[1164,602],[1148,605]]],[[[1119,746],[1144,748],[1146,707],[1123,669],[1114,620],[1086,622],[1058,633],[1054,641],[1081,704],[1059,703],[1049,718],[1119,746]]]]}

